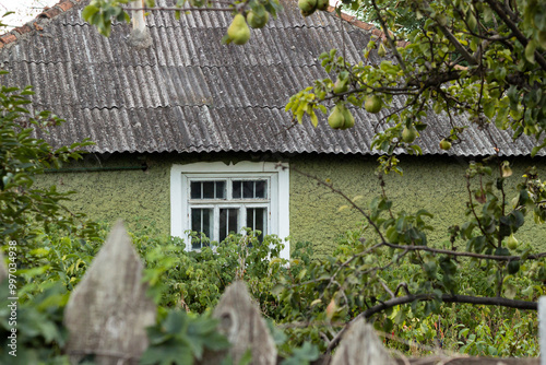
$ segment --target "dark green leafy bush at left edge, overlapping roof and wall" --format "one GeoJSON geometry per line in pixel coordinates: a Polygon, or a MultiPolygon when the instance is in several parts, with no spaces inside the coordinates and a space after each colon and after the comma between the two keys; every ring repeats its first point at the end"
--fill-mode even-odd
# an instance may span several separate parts
{"type": "Polygon", "coordinates": [[[0,242],[17,240],[20,264],[28,264],[36,227],[48,231],[55,224],[69,231],[75,228],[82,236],[93,235],[93,224],[62,204],[71,192],[61,193],[55,187],[33,188],[35,176],[43,174],[44,168],[81,158],[81,149],[91,142],[55,150],[44,140],[33,138],[33,127],[56,126],[63,120],[49,111],[28,111],[27,96],[33,94],[29,86],[0,87],[0,242]]]}

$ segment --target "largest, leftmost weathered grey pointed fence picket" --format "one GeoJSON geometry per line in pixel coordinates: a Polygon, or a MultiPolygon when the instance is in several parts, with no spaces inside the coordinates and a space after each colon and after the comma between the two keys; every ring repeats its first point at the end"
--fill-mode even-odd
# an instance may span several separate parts
{"type": "Polygon", "coordinates": [[[156,306],[142,283],[143,263],[118,222],[64,310],[66,352],[73,364],[95,354],[100,365],[138,364],[156,306]]]}

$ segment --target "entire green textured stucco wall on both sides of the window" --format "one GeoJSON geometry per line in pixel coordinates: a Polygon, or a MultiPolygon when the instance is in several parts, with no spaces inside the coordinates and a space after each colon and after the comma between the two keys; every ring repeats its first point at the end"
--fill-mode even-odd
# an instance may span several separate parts
{"type": "MultiPolygon", "coordinates": [[[[40,176],[38,186],[57,185],[59,190],[75,190],[70,208],[86,213],[93,219],[114,222],[123,219],[129,226],[154,226],[161,234],[170,229],[170,166],[174,163],[198,161],[262,161],[273,160],[268,155],[247,154],[112,154],[88,155],[72,167],[115,167],[141,165],[145,161],[147,169],[114,170],[93,173],[46,174],[40,176]]],[[[373,156],[347,155],[297,155],[289,158],[292,167],[331,179],[337,189],[349,197],[363,196],[365,205],[380,193],[377,176],[373,174],[377,161],[373,156]]],[[[521,176],[524,168],[535,165],[541,175],[546,174],[544,158],[508,158],[514,166],[513,176],[521,176]]],[[[71,167],[71,166],[66,166],[71,167]]],[[[447,228],[461,224],[467,199],[464,172],[467,161],[442,156],[402,157],[404,176],[385,176],[385,190],[394,200],[394,210],[416,212],[426,209],[435,217],[431,225],[437,228],[429,234],[430,243],[441,243],[448,238],[447,228]]],[[[518,179],[511,179],[517,184],[518,179]]],[[[511,197],[510,197],[511,199],[511,197]]],[[[290,170],[290,239],[313,243],[319,256],[330,252],[337,238],[347,229],[361,224],[361,216],[354,210],[337,212],[346,204],[343,199],[306,176],[290,170]]],[[[546,249],[546,226],[536,228],[525,225],[518,238],[546,249]]]]}

